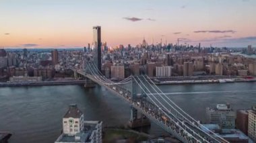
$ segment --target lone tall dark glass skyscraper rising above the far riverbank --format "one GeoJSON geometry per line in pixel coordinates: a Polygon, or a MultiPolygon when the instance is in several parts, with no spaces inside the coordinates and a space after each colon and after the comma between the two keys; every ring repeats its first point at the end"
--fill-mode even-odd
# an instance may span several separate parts
{"type": "Polygon", "coordinates": [[[101,30],[100,26],[94,26],[94,63],[101,72],[101,30]]]}

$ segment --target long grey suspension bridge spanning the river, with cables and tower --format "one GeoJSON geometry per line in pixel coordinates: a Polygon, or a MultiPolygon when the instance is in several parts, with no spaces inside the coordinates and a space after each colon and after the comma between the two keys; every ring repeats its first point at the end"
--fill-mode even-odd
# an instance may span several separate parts
{"type": "Polygon", "coordinates": [[[131,105],[130,122],[137,112],[147,117],[182,142],[228,142],[196,121],[164,94],[148,75],[131,75],[117,83],[106,79],[91,58],[84,68],[72,69],[75,77],[85,77],[117,95],[131,105]]]}

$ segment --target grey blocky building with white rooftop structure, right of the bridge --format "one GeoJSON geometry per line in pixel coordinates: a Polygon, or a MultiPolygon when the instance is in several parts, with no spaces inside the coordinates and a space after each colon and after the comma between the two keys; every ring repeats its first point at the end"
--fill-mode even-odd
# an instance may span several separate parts
{"type": "Polygon", "coordinates": [[[229,104],[217,104],[216,108],[206,108],[207,124],[218,124],[221,128],[235,127],[236,114],[229,104]]]}

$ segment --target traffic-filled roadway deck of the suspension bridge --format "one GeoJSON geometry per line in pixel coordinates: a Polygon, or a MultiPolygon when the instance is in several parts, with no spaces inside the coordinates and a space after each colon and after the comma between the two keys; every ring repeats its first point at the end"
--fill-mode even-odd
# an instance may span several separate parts
{"type": "MultiPolygon", "coordinates": [[[[204,136],[205,133],[200,132],[197,128],[195,128],[195,125],[191,125],[187,122],[181,122],[180,120],[170,120],[168,117],[166,117],[164,114],[170,114],[169,111],[164,111],[164,109],[160,109],[156,107],[153,103],[147,100],[141,101],[141,99],[132,99],[131,98],[131,92],[127,91],[127,89],[124,89],[123,87],[120,87],[118,85],[104,85],[104,83],[99,82],[94,76],[86,74],[82,71],[77,70],[77,73],[84,75],[88,79],[94,81],[95,83],[98,83],[99,85],[105,87],[108,89],[108,91],[114,93],[115,95],[118,95],[125,101],[127,101],[132,107],[137,109],[139,112],[141,112],[143,115],[146,115],[152,122],[166,130],[166,132],[169,132],[170,134],[176,136],[179,140],[182,142],[216,142],[216,140],[207,140],[209,138],[201,138],[200,136],[204,136]],[[183,130],[182,128],[193,128],[193,130],[183,130]],[[198,132],[199,133],[198,133],[198,132]]],[[[174,117],[172,118],[174,119],[174,117]]],[[[197,123],[195,123],[197,124],[197,123]]]]}

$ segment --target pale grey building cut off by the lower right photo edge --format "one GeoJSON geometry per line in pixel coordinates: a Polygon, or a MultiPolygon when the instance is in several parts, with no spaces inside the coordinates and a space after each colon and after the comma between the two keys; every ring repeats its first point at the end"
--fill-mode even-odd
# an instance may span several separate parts
{"type": "Polygon", "coordinates": [[[256,142],[256,106],[249,110],[248,119],[248,136],[256,142]]]}

